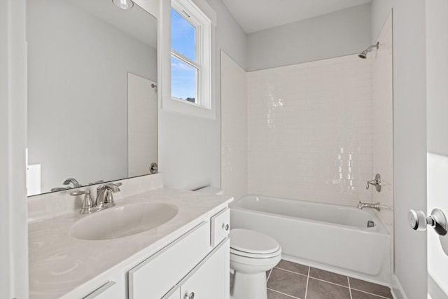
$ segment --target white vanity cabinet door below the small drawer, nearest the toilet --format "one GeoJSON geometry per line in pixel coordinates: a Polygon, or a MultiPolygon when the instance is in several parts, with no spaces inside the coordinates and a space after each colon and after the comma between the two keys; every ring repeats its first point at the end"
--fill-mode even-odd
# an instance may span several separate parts
{"type": "Polygon", "coordinates": [[[226,238],[179,285],[181,299],[228,299],[230,240],[226,238]],[[194,296],[189,297],[192,293],[194,296]]]}

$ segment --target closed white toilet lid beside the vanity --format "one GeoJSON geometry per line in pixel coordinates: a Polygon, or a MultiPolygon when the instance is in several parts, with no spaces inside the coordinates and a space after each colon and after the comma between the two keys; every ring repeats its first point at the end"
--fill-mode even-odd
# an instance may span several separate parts
{"type": "Polygon", "coordinates": [[[261,232],[234,228],[230,230],[230,248],[246,253],[267,254],[278,251],[280,245],[261,232]]]}

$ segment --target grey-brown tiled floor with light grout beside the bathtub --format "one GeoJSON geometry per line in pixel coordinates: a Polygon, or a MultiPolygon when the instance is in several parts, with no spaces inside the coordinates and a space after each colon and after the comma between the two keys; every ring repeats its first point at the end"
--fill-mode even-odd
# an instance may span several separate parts
{"type": "Polygon", "coordinates": [[[386,286],[286,260],[281,260],[266,275],[268,299],[393,298],[391,290],[386,286]]]}

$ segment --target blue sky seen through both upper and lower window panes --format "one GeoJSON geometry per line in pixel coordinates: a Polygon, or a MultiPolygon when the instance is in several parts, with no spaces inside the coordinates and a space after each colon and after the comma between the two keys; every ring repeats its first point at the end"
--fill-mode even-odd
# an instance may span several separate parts
{"type": "MultiPolygon", "coordinates": [[[[171,44],[172,49],[184,57],[196,61],[196,29],[173,8],[171,9],[171,44]]],[[[172,56],[171,58],[171,92],[172,97],[196,102],[197,69],[190,64],[172,56]],[[192,100],[194,99],[194,100],[192,100]]]]}

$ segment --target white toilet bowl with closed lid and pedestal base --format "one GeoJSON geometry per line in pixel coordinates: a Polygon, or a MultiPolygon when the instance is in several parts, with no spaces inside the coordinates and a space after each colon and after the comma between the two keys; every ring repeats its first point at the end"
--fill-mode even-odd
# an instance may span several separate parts
{"type": "Polygon", "coordinates": [[[235,272],[232,299],[267,299],[266,271],[281,260],[276,240],[261,232],[230,230],[230,269],[235,272]]]}

